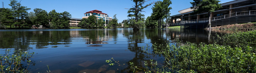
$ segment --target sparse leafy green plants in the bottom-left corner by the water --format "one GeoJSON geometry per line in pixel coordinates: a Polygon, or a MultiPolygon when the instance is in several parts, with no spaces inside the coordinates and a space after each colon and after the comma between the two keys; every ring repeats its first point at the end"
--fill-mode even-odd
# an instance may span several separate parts
{"type": "Polygon", "coordinates": [[[34,53],[23,52],[21,50],[14,51],[14,54],[0,55],[0,72],[1,73],[27,73],[27,68],[33,64],[30,60],[34,53]]]}

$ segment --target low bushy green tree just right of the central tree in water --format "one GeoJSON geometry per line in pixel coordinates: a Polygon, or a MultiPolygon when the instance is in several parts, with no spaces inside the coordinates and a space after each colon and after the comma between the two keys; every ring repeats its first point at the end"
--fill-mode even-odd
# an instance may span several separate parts
{"type": "Polygon", "coordinates": [[[150,16],[145,21],[146,28],[156,28],[158,25],[157,20],[153,20],[150,16]]]}

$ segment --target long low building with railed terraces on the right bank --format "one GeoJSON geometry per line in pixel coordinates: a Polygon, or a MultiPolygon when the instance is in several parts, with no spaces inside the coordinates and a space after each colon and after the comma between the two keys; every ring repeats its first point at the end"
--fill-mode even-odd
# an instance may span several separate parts
{"type": "MultiPolygon", "coordinates": [[[[229,25],[256,21],[256,0],[234,0],[223,3],[222,8],[210,14],[212,26],[229,25]]],[[[172,15],[171,24],[207,23],[208,13],[194,14],[191,8],[172,15]]]]}

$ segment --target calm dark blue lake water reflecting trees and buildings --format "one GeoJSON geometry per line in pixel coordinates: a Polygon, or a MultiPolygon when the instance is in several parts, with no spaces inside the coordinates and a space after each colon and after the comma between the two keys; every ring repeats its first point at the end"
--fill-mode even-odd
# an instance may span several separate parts
{"type": "Polygon", "coordinates": [[[6,49],[35,52],[29,68],[32,73],[112,73],[129,71],[129,62],[141,67],[144,60],[154,59],[160,65],[161,55],[147,55],[143,46],[165,44],[176,38],[183,42],[210,43],[211,37],[234,30],[193,29],[6,29],[0,30],[0,54],[6,49]],[[105,60],[119,61],[109,66],[105,60]]]}

